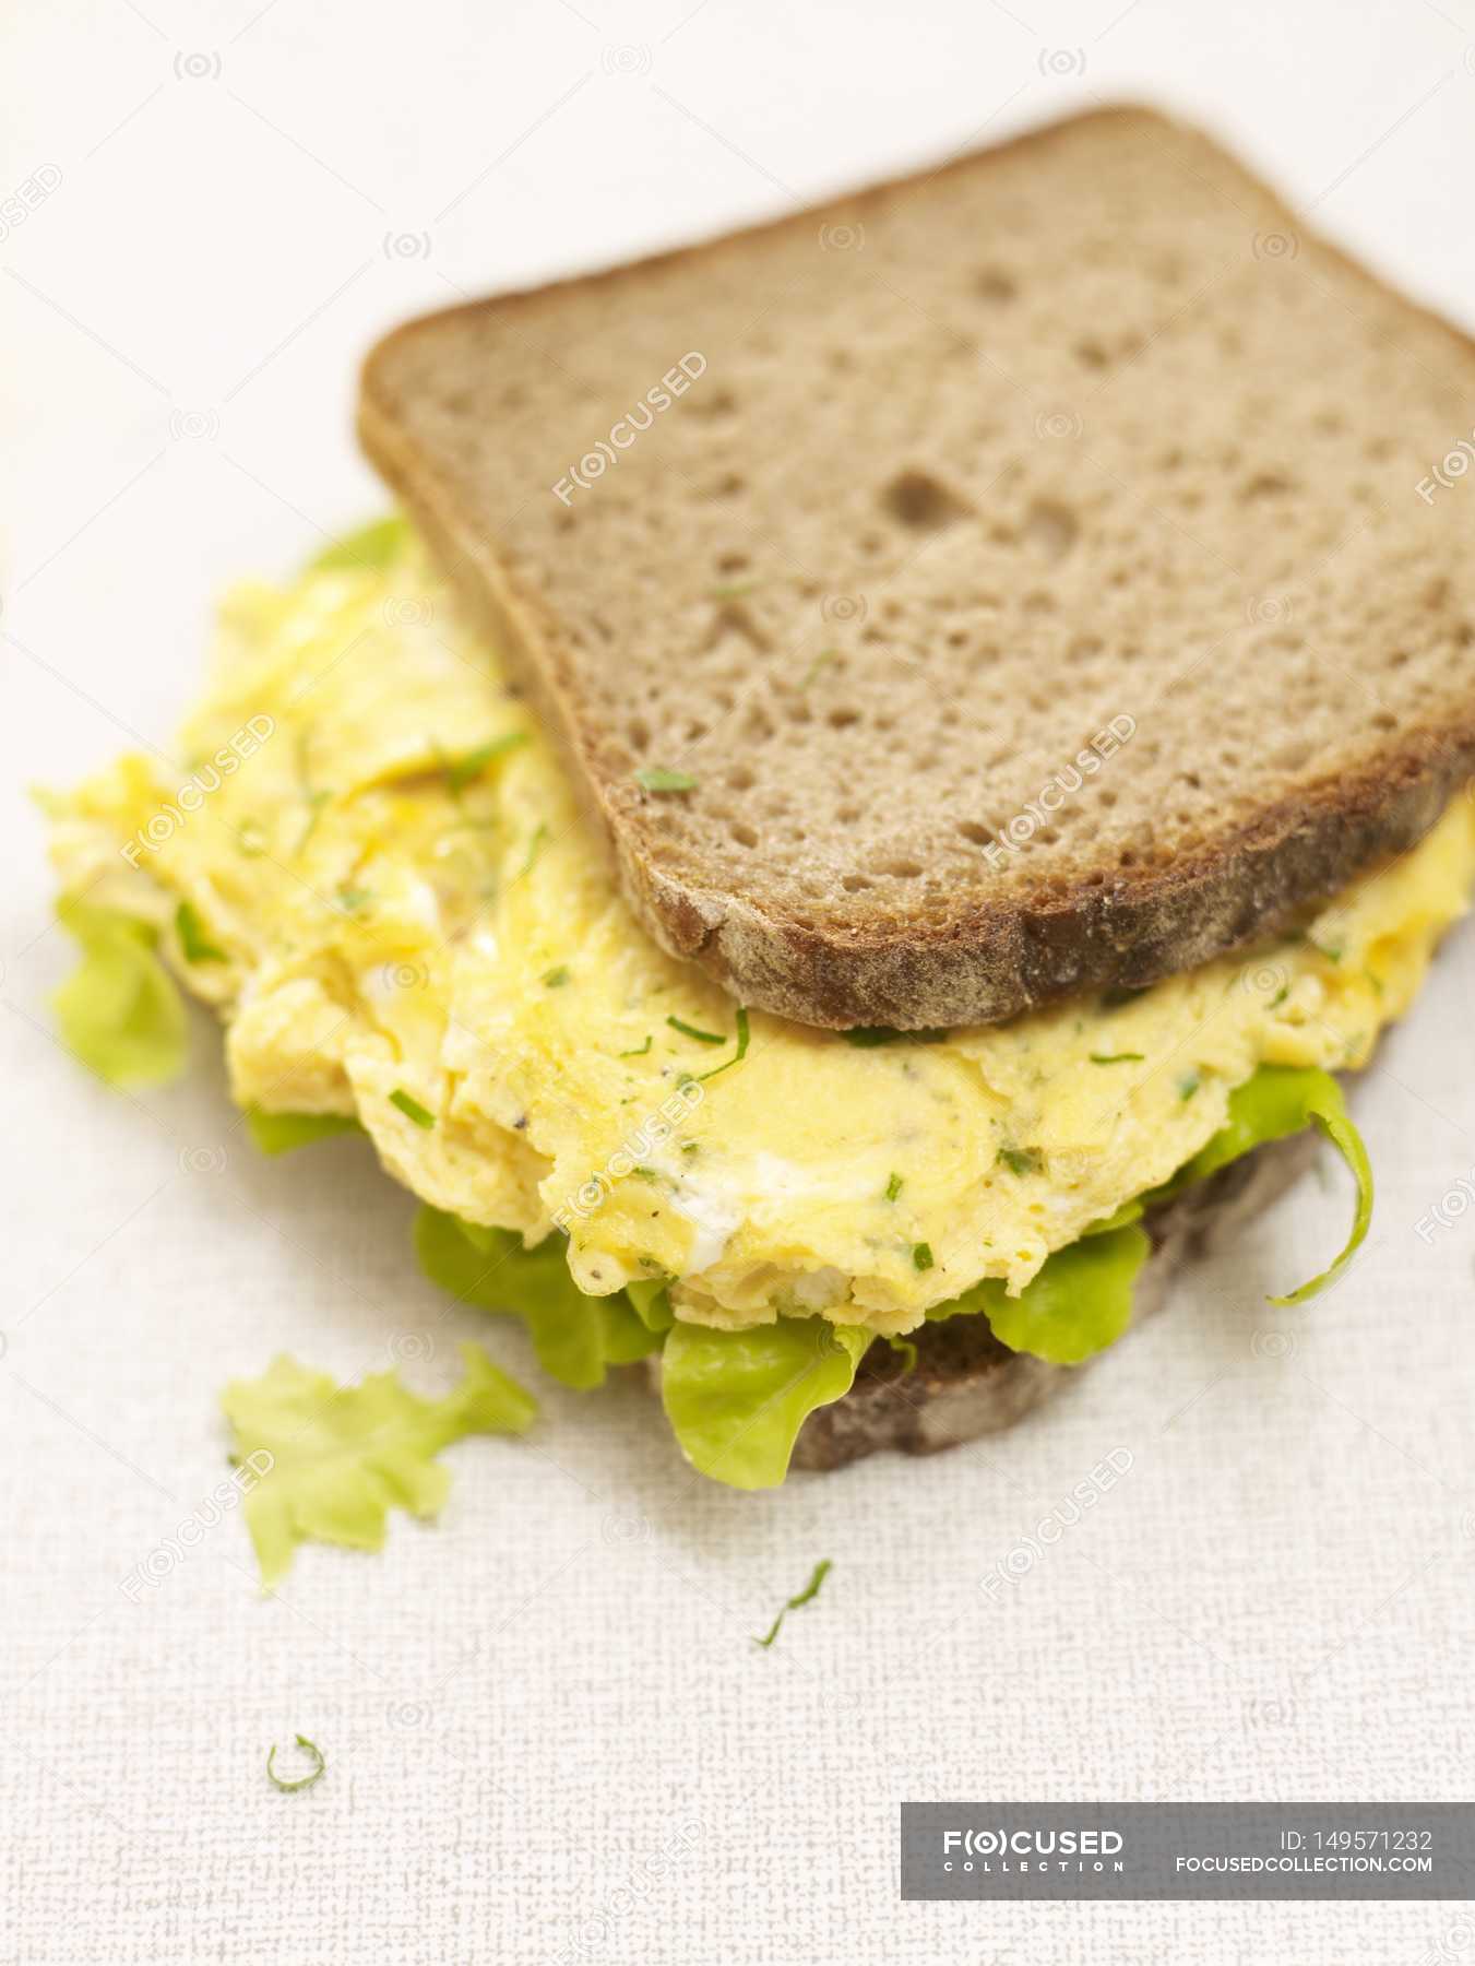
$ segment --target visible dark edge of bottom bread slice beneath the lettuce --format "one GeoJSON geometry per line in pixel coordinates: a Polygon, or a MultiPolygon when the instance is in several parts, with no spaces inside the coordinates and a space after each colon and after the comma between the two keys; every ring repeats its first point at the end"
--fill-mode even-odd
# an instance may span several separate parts
{"type": "MultiPolygon", "coordinates": [[[[1228,1243],[1253,1215],[1283,1195],[1316,1158],[1312,1130],[1273,1140],[1186,1187],[1143,1219],[1153,1250],[1137,1272],[1133,1323],[1167,1300],[1173,1272],[1188,1256],[1228,1243]]],[[[911,1333],[917,1362],[884,1341],[860,1360],[854,1386],[817,1408],[793,1447],[797,1469],[839,1469],[884,1447],[935,1455],[982,1433],[1011,1427],[1080,1366],[1047,1364],[1011,1353],[986,1317],[951,1317],[911,1333]]],[[[1104,1357],[1104,1355],[1102,1355],[1104,1357]]]]}

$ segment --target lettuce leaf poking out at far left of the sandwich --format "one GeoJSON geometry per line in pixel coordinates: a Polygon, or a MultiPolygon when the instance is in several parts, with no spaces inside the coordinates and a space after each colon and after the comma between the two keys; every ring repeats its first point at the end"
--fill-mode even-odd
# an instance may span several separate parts
{"type": "Polygon", "coordinates": [[[57,902],[57,920],[82,948],[82,961],[51,999],[67,1050],[108,1085],[179,1077],[189,1052],[185,999],[153,954],[157,932],[75,895],[57,902]]]}

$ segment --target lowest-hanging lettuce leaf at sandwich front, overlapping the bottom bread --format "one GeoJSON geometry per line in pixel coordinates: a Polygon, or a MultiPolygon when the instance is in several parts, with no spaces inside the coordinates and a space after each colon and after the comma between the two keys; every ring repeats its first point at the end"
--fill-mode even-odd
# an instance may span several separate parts
{"type": "Polygon", "coordinates": [[[805,1417],[850,1390],[870,1341],[870,1331],[825,1317],[748,1331],[674,1323],[660,1396],[682,1453],[731,1488],[778,1488],[805,1417]]]}

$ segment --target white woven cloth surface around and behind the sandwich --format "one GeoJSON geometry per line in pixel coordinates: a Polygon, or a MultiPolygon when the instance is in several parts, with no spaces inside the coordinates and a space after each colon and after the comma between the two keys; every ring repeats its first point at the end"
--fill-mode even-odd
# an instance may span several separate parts
{"type": "Polygon", "coordinates": [[[33,0],[6,20],[0,191],[43,165],[61,185],[0,242],[0,1954],[1459,1954],[1449,1905],[901,1905],[894,1846],[903,1797],[1469,1793],[1473,1235],[1426,1246],[1414,1221],[1475,1166],[1471,934],[1359,1093],[1375,1239],[1312,1309],[1261,1298],[1334,1246],[1334,1176],[992,1443],[738,1496],[683,1474],[636,1388],[540,1384],[530,1443],[450,1453],[438,1528],[399,1520],[379,1559],[306,1549],[265,1600],[232,1520],[132,1604],[124,1573],[224,1469],[228,1376],[281,1347],[373,1370],[407,1331],[434,1339],[422,1384],[473,1333],[536,1372],[418,1280],[409,1197],[359,1144],[251,1156],[204,1020],[165,1095],[69,1064],[45,1011],[69,952],[20,786],[132,733],[169,745],[212,592],[379,505],[350,434],[361,352],[462,291],[1145,94],[1475,324],[1471,0],[33,0]],[[980,1590],[1120,1445],[1131,1473],[1090,1518],[980,1590]],[[756,1651],[821,1555],[821,1600],[756,1651]],[[265,1752],[299,1730],[330,1771],[277,1795],[265,1752]]]}

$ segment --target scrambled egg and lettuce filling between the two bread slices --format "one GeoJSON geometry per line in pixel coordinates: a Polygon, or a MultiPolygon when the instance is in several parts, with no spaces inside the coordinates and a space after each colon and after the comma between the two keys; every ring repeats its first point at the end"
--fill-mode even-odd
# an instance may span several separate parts
{"type": "Polygon", "coordinates": [[[228,598],[183,753],[185,784],[124,757],[49,796],[73,1050],[118,1083],[177,1071],[183,985],[263,1150],[361,1128],[438,1284],[520,1315],[570,1384],[658,1359],[687,1459],[738,1486],[782,1480],[858,1370],[905,1380],[933,1327],[1092,1357],[1155,1217],[1308,1127],[1359,1199],[1288,1301],[1334,1278],[1371,1176],[1332,1073],[1475,885],[1457,796],[1292,926],[1145,989],[925,1032],[744,1009],[636,924],[403,521],[228,598]]]}

